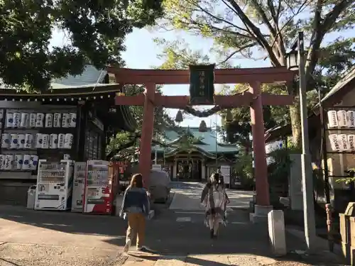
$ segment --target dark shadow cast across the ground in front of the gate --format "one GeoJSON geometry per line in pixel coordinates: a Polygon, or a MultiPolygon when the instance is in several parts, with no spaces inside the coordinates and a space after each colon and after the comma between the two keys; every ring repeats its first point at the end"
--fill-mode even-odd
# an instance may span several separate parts
{"type": "MultiPolygon", "coordinates": [[[[233,215],[239,216],[238,219],[241,221],[246,221],[248,219],[247,216],[249,216],[246,211],[238,211],[233,215]]],[[[109,238],[104,238],[104,242],[116,245],[119,248],[124,245],[126,221],[114,216],[29,211],[13,207],[7,209],[0,207],[0,222],[1,218],[63,233],[107,235],[109,238]]],[[[0,223],[1,227],[3,226],[0,223]]],[[[1,237],[0,240],[2,240],[1,237]]],[[[305,249],[304,243],[299,238],[287,235],[287,240],[290,251],[305,249]]],[[[148,221],[146,244],[156,254],[159,254],[159,256],[151,257],[151,260],[157,260],[164,255],[186,256],[201,254],[234,256],[250,254],[272,257],[268,245],[266,226],[253,225],[251,223],[230,224],[221,229],[216,240],[211,240],[208,229],[202,223],[178,223],[173,218],[148,221]]],[[[303,262],[310,262],[311,260],[312,265],[337,265],[336,261],[331,261],[328,258],[327,262],[324,262],[324,257],[302,257],[295,253],[290,253],[285,259],[303,262]]],[[[196,265],[208,265],[206,264],[207,262],[199,262],[198,260],[195,258],[193,263],[196,265]]],[[[218,264],[214,263],[213,265],[218,264]]],[[[219,266],[223,265],[226,264],[219,264],[219,266]]]]}

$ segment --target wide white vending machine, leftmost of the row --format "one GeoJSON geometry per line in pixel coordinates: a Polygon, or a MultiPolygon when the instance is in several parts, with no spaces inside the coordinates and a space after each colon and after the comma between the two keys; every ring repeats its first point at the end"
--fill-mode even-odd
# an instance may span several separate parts
{"type": "Polygon", "coordinates": [[[65,211],[72,205],[72,160],[39,160],[35,210],[65,211]]]}

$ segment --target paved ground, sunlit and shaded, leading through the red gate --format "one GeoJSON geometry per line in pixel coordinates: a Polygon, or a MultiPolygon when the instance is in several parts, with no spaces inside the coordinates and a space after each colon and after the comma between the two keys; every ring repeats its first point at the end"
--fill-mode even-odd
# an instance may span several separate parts
{"type": "MultiPolygon", "coordinates": [[[[295,253],[283,257],[285,261],[272,257],[266,226],[249,223],[243,209],[229,211],[230,223],[211,240],[202,224],[203,212],[184,199],[193,201],[198,188],[183,186],[179,187],[187,190],[182,192],[185,196],[173,199],[175,208],[180,204],[182,209],[166,209],[147,223],[146,245],[155,251],[152,254],[122,253],[126,221],[118,217],[0,206],[0,266],[307,265],[301,264],[309,261],[307,257],[295,253]]],[[[287,235],[287,242],[290,252],[305,248],[293,235],[287,235]]],[[[324,253],[309,265],[337,265],[336,259],[324,253]]]]}

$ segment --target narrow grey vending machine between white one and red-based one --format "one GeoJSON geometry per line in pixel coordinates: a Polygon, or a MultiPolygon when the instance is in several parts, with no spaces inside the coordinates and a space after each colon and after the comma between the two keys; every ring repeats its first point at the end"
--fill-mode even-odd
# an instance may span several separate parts
{"type": "Polygon", "coordinates": [[[86,172],[86,162],[75,162],[72,186],[72,211],[75,212],[82,212],[86,172]]]}

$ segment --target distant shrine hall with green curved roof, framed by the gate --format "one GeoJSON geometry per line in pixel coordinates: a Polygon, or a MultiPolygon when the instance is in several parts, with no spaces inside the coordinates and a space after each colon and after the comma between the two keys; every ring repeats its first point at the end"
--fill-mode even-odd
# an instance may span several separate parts
{"type": "Polygon", "coordinates": [[[187,127],[165,131],[165,148],[152,147],[152,159],[164,165],[172,180],[204,181],[221,165],[234,165],[236,145],[219,143],[211,128],[187,127]]]}

